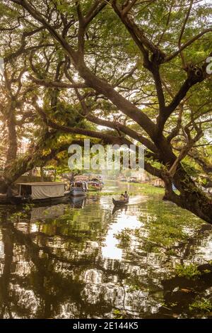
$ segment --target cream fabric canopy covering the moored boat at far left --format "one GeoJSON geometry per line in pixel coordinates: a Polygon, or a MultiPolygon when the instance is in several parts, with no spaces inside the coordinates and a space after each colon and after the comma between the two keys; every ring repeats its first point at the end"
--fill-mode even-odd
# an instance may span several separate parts
{"type": "Polygon", "coordinates": [[[31,196],[35,199],[45,198],[59,198],[64,196],[65,184],[64,183],[19,183],[19,195],[20,196],[31,196]]]}

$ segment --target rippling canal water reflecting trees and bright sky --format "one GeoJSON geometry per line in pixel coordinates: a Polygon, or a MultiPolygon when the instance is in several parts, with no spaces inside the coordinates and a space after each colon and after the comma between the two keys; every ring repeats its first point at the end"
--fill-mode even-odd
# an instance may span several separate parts
{"type": "Polygon", "coordinates": [[[104,191],[0,206],[0,317],[212,317],[212,226],[138,184],[104,191]]]}

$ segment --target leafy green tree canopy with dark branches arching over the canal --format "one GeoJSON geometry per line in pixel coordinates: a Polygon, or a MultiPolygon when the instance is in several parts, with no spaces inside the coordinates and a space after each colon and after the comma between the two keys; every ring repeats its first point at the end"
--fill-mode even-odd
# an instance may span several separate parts
{"type": "Polygon", "coordinates": [[[37,145],[55,149],[43,137],[59,150],[64,134],[139,142],[165,198],[212,222],[211,199],[187,168],[211,165],[210,1],[3,0],[0,10],[2,188],[17,176],[18,136],[31,142],[28,169],[37,145]]]}

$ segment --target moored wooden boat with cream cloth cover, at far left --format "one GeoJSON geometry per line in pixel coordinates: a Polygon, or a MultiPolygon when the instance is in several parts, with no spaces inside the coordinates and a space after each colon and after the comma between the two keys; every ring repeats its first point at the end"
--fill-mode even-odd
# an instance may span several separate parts
{"type": "Polygon", "coordinates": [[[69,191],[65,191],[64,183],[39,182],[19,183],[18,195],[9,197],[12,204],[48,203],[57,204],[69,200],[69,191]]]}

